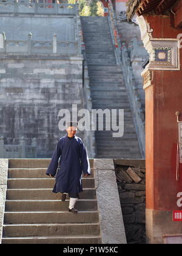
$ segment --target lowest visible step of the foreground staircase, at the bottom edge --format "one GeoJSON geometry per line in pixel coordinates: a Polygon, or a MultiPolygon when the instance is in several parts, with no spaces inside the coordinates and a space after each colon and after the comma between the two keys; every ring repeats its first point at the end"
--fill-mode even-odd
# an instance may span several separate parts
{"type": "Polygon", "coordinates": [[[101,236],[30,236],[2,238],[2,244],[101,244],[101,236]]]}

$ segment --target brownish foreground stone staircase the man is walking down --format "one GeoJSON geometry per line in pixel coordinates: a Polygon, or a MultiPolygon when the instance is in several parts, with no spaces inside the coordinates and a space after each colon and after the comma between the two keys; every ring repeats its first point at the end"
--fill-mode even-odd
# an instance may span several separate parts
{"type": "MultiPolygon", "coordinates": [[[[69,198],[53,194],[55,179],[45,175],[50,159],[10,159],[5,201],[3,244],[101,243],[95,179],[83,178],[77,215],[69,198]]],[[[93,160],[90,160],[93,173],[93,160]]]]}

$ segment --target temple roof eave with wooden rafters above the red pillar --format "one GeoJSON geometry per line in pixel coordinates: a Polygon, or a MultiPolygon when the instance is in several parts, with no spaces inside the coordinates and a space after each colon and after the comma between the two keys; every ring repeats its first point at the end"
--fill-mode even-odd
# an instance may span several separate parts
{"type": "Polygon", "coordinates": [[[154,12],[156,15],[163,14],[175,4],[177,0],[129,0],[127,2],[127,18],[130,20],[136,13],[138,16],[154,12]]]}

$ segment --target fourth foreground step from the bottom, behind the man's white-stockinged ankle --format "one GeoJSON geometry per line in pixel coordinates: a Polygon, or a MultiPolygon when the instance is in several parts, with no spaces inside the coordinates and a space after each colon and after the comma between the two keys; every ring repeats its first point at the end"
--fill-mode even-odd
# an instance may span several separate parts
{"type": "MultiPolygon", "coordinates": [[[[67,211],[69,200],[61,202],[58,200],[6,200],[6,212],[45,212],[45,211],[67,211]]],[[[76,208],[80,211],[97,210],[97,201],[95,199],[78,199],[76,208]]],[[[73,214],[73,213],[71,213],[73,214]]]]}

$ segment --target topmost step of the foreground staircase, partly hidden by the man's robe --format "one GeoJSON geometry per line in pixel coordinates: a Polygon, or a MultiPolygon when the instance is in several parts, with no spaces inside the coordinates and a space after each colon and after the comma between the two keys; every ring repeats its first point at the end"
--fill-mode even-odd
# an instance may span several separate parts
{"type": "MultiPolygon", "coordinates": [[[[48,168],[49,158],[11,158],[8,160],[8,168],[48,168]]],[[[93,168],[93,159],[89,159],[90,167],[93,168]]]]}

